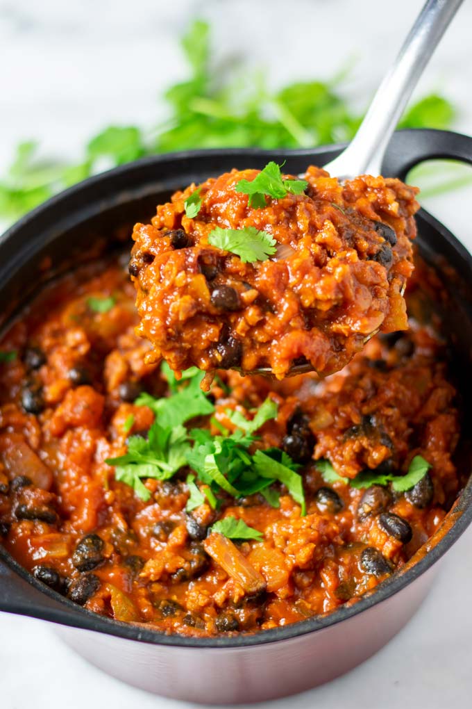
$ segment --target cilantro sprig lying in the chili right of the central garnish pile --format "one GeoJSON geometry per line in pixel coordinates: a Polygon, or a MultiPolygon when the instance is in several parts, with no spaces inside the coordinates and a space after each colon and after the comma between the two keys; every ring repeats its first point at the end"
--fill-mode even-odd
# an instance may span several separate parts
{"type": "Polygon", "coordinates": [[[363,470],[353,479],[340,476],[328,460],[318,460],[316,468],[321,472],[323,480],[329,484],[343,482],[349,484],[357,490],[363,490],[372,485],[386,486],[391,482],[392,489],[396,492],[406,492],[412,489],[430,469],[431,464],[421,455],[415,455],[408,467],[405,475],[394,475],[391,473],[379,473],[376,470],[363,470]]]}

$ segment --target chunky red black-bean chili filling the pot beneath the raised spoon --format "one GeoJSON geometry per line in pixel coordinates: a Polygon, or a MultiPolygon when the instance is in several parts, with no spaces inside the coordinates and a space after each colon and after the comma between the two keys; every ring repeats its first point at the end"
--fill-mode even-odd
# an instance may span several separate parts
{"type": "MultiPolygon", "coordinates": [[[[402,194],[398,183],[388,189],[402,194]]],[[[355,186],[348,194],[352,203],[360,199],[355,186]]],[[[359,211],[369,215],[365,200],[359,211]]],[[[160,215],[168,228],[178,226],[174,207],[160,215]]],[[[396,219],[398,244],[406,227],[396,219]]],[[[381,233],[392,245],[393,235],[381,233]]],[[[185,257],[187,249],[175,253],[185,257]]],[[[225,297],[236,305],[220,288],[219,305],[225,297]]],[[[143,363],[148,345],[134,333],[133,298],[122,269],[98,263],[50,286],[0,343],[18,352],[0,364],[1,543],[37,578],[88,610],[163,632],[256,632],[355,603],[437,530],[459,491],[459,413],[444,346],[430,328],[413,322],[408,333],[374,337],[343,372],[322,381],[220,371],[211,389],[214,414],[189,428],[233,430],[228,408],[248,416],[270,396],[277,418],[253,447],[275,447],[297,462],[306,515],[279,483],[279,507],[260,492],[241,499],[219,493],[219,508],[205,501],[188,511],[188,468],[167,481],[144,478],[150,498],[143,501],[104,462],[123,454],[130,436],[146,437],[154,421],[134,396],[169,393],[156,364],[143,363]],[[91,296],[110,294],[109,310],[87,306],[91,296]],[[41,352],[39,369],[32,370],[31,347],[41,352]],[[86,371],[87,383],[69,374],[74,367],[86,371]],[[32,371],[45,393],[39,413],[22,405],[32,371]],[[345,479],[365,469],[404,474],[417,454],[431,468],[422,487],[407,493],[327,481],[317,467],[328,459],[345,479]],[[260,540],[212,532],[228,516],[261,532],[260,540]]]]}

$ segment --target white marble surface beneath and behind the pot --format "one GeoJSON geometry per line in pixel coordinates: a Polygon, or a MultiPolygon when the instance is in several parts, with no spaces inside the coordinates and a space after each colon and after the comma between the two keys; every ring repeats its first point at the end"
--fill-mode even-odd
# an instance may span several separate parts
{"type": "MultiPolygon", "coordinates": [[[[156,123],[164,115],[161,90],[183,76],[175,38],[190,16],[209,18],[217,28],[217,57],[238,54],[250,64],[262,63],[274,86],[329,77],[354,57],[346,90],[363,106],[420,5],[420,0],[0,0],[0,174],[18,140],[38,138],[46,153],[74,158],[103,125],[156,123]]],[[[464,133],[472,133],[471,26],[469,2],[417,91],[449,95],[459,106],[456,126],[464,133]]],[[[471,199],[469,186],[425,201],[469,247],[471,199]]],[[[470,706],[471,543],[472,529],[447,555],[415,618],[375,657],[343,678],[267,708],[470,706]]],[[[57,705],[183,706],[105,676],[57,640],[51,625],[0,614],[1,709],[57,705]],[[61,693],[70,688],[64,700],[61,693]]]]}

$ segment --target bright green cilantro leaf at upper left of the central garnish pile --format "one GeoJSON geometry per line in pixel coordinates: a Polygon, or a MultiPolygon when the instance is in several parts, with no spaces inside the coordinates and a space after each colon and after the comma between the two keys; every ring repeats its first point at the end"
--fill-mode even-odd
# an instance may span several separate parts
{"type": "Polygon", "coordinates": [[[204,372],[201,376],[193,377],[185,389],[181,389],[173,396],[154,398],[151,394],[143,392],[135,403],[137,406],[149,406],[164,429],[175,428],[195,416],[209,415],[213,413],[214,406],[200,389],[203,376],[205,376],[204,372]]]}

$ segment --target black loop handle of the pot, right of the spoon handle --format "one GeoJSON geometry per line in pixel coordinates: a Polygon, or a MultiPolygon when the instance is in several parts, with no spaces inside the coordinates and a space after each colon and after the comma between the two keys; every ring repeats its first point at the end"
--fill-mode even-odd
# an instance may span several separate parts
{"type": "Polygon", "coordinates": [[[388,145],[382,174],[404,181],[415,165],[441,158],[472,164],[472,138],[449,130],[399,130],[388,145]]]}

